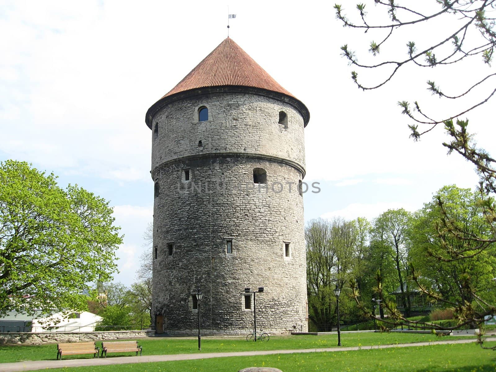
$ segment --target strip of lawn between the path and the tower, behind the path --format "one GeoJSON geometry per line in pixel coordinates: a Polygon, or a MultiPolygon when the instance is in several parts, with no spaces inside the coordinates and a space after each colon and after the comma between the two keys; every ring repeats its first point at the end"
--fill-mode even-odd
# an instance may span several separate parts
{"type": "MultiPolygon", "coordinates": [[[[386,345],[408,342],[433,342],[438,340],[466,339],[469,336],[452,337],[436,336],[430,333],[345,333],[341,334],[341,346],[386,345]]],[[[136,340],[136,339],[135,339],[136,340]]],[[[110,340],[109,340],[110,341],[110,340]]],[[[123,341],[123,339],[116,340],[123,341]]],[[[272,336],[268,342],[247,342],[246,338],[239,337],[203,337],[201,351],[198,351],[196,338],[180,337],[147,337],[137,339],[143,347],[143,355],[161,354],[190,354],[190,353],[216,353],[251,350],[293,350],[293,349],[319,349],[337,346],[337,335],[322,336],[272,336]]],[[[36,360],[55,360],[57,357],[57,344],[45,345],[1,345],[0,362],[21,362],[36,360]]],[[[101,349],[101,342],[97,347],[101,349]]],[[[130,356],[133,353],[109,354],[107,358],[117,356],[130,356]]],[[[63,359],[93,358],[92,354],[70,355],[63,359]]]]}

